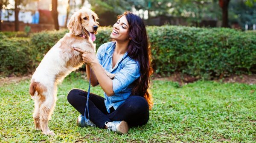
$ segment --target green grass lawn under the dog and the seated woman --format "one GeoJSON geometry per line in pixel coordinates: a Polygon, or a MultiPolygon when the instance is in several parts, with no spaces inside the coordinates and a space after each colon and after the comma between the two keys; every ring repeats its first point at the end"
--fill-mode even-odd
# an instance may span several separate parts
{"type": "MultiPolygon", "coordinates": [[[[197,81],[179,87],[170,81],[152,81],[154,107],[144,126],[127,135],[106,129],[79,128],[79,115],[67,101],[72,88],[87,90],[88,82],[71,74],[58,86],[58,101],[49,128],[56,136],[34,129],[34,101],[30,81],[0,87],[0,142],[256,142],[256,85],[197,81]]],[[[92,93],[102,94],[100,87],[92,93]]]]}

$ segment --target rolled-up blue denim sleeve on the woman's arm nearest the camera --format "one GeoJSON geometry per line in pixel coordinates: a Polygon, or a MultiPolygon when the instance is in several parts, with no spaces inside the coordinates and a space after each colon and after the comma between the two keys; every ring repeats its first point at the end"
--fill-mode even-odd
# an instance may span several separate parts
{"type": "Polygon", "coordinates": [[[126,64],[118,73],[116,73],[113,82],[113,92],[119,93],[126,89],[132,82],[140,77],[140,67],[136,62],[126,64]]]}

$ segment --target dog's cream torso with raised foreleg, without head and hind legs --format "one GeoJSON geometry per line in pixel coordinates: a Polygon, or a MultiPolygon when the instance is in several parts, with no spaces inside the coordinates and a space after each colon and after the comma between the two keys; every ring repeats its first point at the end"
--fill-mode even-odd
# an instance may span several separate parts
{"type": "Polygon", "coordinates": [[[95,52],[95,44],[92,41],[68,33],[47,52],[32,79],[45,84],[50,81],[57,84],[69,73],[81,67],[81,53],[74,50],[74,47],[95,52]]]}

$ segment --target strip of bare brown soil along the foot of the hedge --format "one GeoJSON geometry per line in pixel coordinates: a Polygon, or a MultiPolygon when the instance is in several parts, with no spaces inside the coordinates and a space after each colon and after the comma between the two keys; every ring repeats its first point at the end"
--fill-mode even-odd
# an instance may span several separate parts
{"type": "MultiPolygon", "coordinates": [[[[22,80],[31,79],[32,75],[26,76],[10,76],[10,77],[0,77],[0,85],[9,84],[9,83],[17,83],[22,80]]],[[[155,75],[153,80],[166,80],[166,81],[176,81],[180,85],[184,85],[187,83],[191,83],[197,81],[198,79],[192,76],[181,75],[180,73],[174,73],[169,77],[160,77],[155,75]]],[[[252,75],[232,75],[230,77],[215,79],[214,81],[222,81],[222,82],[238,82],[245,84],[256,84],[256,74],[252,75]]]]}

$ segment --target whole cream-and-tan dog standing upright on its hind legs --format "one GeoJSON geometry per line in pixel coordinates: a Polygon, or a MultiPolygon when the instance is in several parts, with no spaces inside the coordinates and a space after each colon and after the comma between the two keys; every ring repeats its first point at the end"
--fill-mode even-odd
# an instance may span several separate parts
{"type": "MultiPolygon", "coordinates": [[[[88,8],[81,8],[74,13],[67,24],[70,32],[47,52],[32,75],[29,94],[35,101],[35,129],[41,129],[44,135],[55,135],[48,128],[48,120],[55,108],[57,84],[83,65],[81,53],[73,48],[96,52],[93,41],[99,25],[97,19],[97,14],[88,8]]],[[[113,74],[106,70],[105,73],[113,79],[113,74]]]]}

